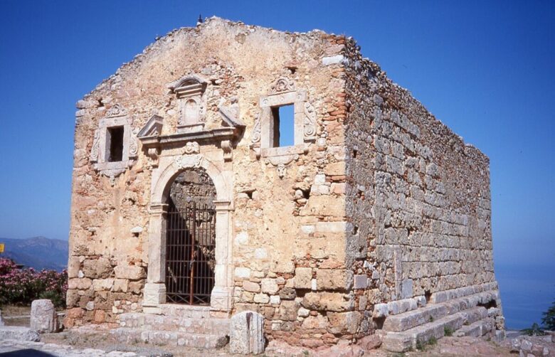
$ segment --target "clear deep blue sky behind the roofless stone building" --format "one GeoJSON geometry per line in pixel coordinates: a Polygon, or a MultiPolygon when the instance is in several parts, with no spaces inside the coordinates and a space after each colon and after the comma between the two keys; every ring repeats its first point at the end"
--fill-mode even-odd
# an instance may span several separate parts
{"type": "Polygon", "coordinates": [[[75,102],[199,14],[354,36],[490,156],[509,326],[539,321],[555,298],[553,1],[0,1],[0,237],[67,239],[75,102]]]}

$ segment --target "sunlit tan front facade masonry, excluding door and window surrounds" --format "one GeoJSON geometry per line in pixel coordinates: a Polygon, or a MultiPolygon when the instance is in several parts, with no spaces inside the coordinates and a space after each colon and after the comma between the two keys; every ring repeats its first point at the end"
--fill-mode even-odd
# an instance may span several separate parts
{"type": "Polygon", "coordinates": [[[353,332],[343,324],[343,313],[354,307],[344,243],[347,110],[344,69],[336,61],[344,41],[211,18],[160,38],[78,102],[66,325],[113,324],[122,312],[142,310],[154,169],[139,147],[120,176],[95,171],[89,156],[100,119],[119,105],[135,134],[152,114],[164,118],[162,134],[170,134],[178,114],[167,85],[195,73],[208,82],[206,128],[221,127],[220,105],[236,107],[247,126],[231,162],[223,162],[218,144],[200,148],[234,172],[231,312],[260,311],[268,339],[292,344],[320,346],[353,332]],[[280,77],[306,90],[316,112],[314,143],[285,166],[283,177],[251,149],[259,98],[280,77]]]}

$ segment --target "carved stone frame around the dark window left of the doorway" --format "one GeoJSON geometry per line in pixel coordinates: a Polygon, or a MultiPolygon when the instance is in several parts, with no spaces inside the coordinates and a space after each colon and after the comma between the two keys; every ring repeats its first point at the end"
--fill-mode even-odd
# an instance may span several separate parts
{"type": "Polygon", "coordinates": [[[137,137],[132,132],[132,122],[133,119],[119,105],[109,110],[107,116],[98,122],[90,162],[93,163],[95,170],[100,171],[100,174],[109,177],[119,176],[127,167],[134,164],[139,148],[137,137]],[[114,127],[123,127],[122,161],[108,161],[110,148],[108,147],[107,136],[108,131],[114,127]]]}

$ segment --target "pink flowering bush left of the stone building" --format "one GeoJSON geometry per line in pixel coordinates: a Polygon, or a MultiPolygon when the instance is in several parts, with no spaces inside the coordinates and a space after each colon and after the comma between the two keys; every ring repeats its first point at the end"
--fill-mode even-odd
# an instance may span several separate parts
{"type": "Polygon", "coordinates": [[[65,307],[67,291],[66,270],[19,269],[13,260],[0,258],[0,304],[28,305],[35,299],[51,299],[56,307],[65,307]]]}

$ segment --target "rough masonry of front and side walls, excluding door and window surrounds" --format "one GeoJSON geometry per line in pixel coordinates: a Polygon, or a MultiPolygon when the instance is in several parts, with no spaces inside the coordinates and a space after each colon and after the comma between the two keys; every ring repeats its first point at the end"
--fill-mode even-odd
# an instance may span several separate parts
{"type": "MultiPolygon", "coordinates": [[[[311,348],[359,339],[376,328],[375,304],[495,282],[486,156],[351,39],[211,18],[159,38],[78,102],[66,326],[142,311],[160,175],[140,143],[113,178],[94,169],[90,152],[116,107],[133,135],[153,114],[164,119],[162,134],[176,132],[169,84],[191,74],[206,80],[205,129],[223,125],[221,106],[246,125],[231,161],[219,142],[199,152],[233,172],[229,312],[263,314],[267,339],[311,348]],[[311,144],[297,154],[283,148],[285,164],[253,145],[260,97],[279,78],[307,92],[315,121],[311,144]]],[[[183,153],[172,146],[159,156],[167,163],[183,153]]]]}

